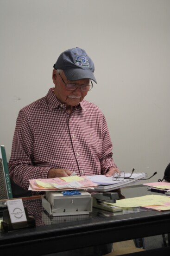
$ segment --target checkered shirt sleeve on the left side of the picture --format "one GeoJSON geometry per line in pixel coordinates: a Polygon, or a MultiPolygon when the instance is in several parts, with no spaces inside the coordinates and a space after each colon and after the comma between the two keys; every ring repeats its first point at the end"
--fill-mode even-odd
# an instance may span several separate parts
{"type": "Polygon", "coordinates": [[[9,160],[9,174],[15,183],[25,190],[29,187],[29,179],[47,178],[49,167],[38,167],[33,164],[34,134],[25,112],[19,112],[11,158],[9,160]]]}

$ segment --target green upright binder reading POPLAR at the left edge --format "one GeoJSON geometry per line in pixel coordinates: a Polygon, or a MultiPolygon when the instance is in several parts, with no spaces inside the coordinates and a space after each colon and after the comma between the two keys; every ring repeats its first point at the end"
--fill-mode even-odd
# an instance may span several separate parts
{"type": "Polygon", "coordinates": [[[0,145],[0,199],[13,198],[10,182],[6,150],[4,145],[0,145]]]}

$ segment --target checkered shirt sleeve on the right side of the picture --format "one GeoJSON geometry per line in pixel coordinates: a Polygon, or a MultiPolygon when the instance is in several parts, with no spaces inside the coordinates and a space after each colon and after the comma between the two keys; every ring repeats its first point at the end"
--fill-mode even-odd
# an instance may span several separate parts
{"type": "Polygon", "coordinates": [[[101,174],[105,175],[107,170],[110,167],[117,167],[113,161],[113,144],[110,138],[110,134],[107,127],[106,118],[103,115],[103,144],[102,144],[102,152],[101,152],[101,174]]]}

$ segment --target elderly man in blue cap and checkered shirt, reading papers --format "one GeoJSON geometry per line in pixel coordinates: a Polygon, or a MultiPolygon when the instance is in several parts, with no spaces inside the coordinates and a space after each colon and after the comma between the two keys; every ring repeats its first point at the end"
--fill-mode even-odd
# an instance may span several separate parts
{"type": "Polygon", "coordinates": [[[20,110],[9,172],[25,190],[29,179],[119,172],[101,110],[86,100],[94,63],[81,48],[61,53],[52,73],[54,88],[20,110]]]}

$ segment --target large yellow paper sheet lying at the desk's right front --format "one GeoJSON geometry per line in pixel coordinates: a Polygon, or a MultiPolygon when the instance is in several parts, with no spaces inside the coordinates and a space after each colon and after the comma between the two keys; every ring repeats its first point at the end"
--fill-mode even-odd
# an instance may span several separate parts
{"type": "Polygon", "coordinates": [[[164,205],[164,203],[170,202],[170,197],[160,195],[148,195],[143,197],[132,197],[126,199],[117,200],[114,205],[120,207],[139,207],[139,206],[153,206],[153,205],[164,205]]]}

